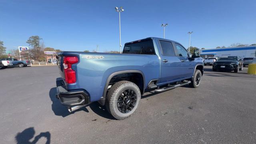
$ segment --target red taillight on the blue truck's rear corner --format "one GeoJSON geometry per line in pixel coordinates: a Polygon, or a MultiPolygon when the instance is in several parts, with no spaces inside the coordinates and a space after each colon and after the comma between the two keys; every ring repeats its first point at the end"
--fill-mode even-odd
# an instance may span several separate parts
{"type": "Polygon", "coordinates": [[[65,73],[65,81],[68,84],[76,82],[76,72],[72,70],[72,64],[78,63],[78,57],[76,56],[64,56],[63,67],[65,73]]]}

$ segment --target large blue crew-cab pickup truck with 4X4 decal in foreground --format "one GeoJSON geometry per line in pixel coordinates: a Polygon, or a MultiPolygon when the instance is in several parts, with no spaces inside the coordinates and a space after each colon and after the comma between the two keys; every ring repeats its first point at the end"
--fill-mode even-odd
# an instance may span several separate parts
{"type": "Polygon", "coordinates": [[[122,54],[60,52],[56,97],[70,112],[98,101],[122,120],[138,108],[144,92],[200,85],[204,72],[199,50],[162,38],[128,42],[122,54]]]}

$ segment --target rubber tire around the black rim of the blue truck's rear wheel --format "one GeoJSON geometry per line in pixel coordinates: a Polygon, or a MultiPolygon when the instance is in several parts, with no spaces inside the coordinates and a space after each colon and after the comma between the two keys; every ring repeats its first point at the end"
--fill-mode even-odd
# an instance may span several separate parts
{"type": "Polygon", "coordinates": [[[140,89],[138,88],[138,86],[136,84],[134,84],[133,82],[123,80],[123,81],[115,83],[108,90],[108,94],[106,96],[106,108],[107,108],[108,112],[114,118],[116,118],[118,120],[123,120],[123,119],[126,119],[126,118],[132,116],[132,114],[134,114],[134,112],[138,108],[138,105],[140,102],[140,97],[141,97],[141,94],[140,94],[140,89]],[[128,89],[131,89],[135,92],[136,104],[130,112],[122,113],[122,112],[120,112],[120,110],[118,110],[117,100],[118,100],[120,94],[122,94],[125,90],[128,90],[128,89]]]}

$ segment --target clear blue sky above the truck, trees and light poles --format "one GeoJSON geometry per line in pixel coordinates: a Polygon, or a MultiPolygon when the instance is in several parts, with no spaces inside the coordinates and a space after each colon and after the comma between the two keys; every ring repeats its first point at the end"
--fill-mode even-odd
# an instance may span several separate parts
{"type": "Polygon", "coordinates": [[[46,47],[65,51],[119,50],[147,37],[163,37],[188,47],[216,48],[256,43],[255,0],[0,0],[0,40],[7,50],[28,46],[38,35],[46,47]]]}

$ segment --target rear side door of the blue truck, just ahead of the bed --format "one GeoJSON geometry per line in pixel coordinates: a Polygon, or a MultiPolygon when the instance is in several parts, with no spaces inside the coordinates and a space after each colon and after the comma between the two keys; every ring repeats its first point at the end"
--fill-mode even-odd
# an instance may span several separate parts
{"type": "Polygon", "coordinates": [[[175,56],[172,42],[159,40],[161,51],[161,83],[182,79],[180,73],[180,59],[175,56]]]}

